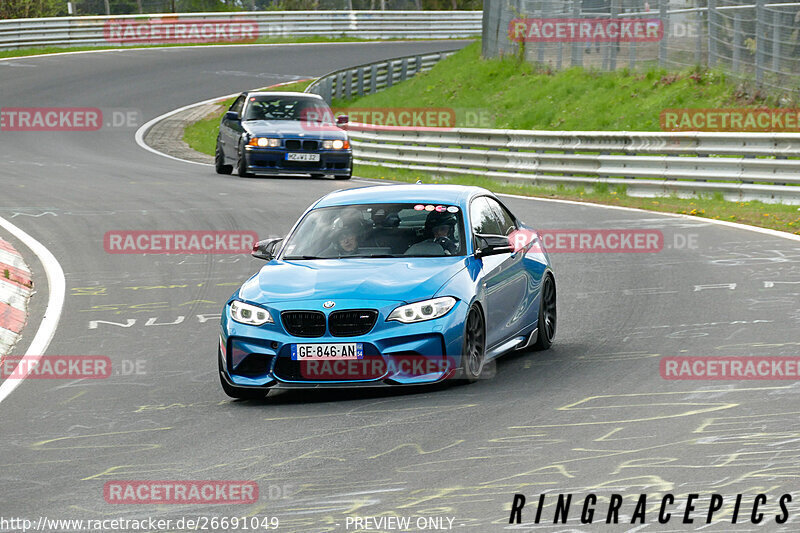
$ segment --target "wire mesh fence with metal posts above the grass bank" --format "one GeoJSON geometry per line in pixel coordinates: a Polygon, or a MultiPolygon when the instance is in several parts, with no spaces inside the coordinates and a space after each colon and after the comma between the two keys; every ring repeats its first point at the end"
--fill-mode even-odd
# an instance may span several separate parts
{"type": "Polygon", "coordinates": [[[484,57],[556,69],[708,66],[800,97],[800,2],[486,0],[483,19],[484,57]]]}

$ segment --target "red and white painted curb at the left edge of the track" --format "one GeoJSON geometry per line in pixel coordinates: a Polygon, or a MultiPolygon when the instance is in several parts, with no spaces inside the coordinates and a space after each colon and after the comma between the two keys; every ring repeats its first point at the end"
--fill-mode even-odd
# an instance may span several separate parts
{"type": "Polygon", "coordinates": [[[0,357],[19,339],[32,292],[28,265],[10,243],[0,239],[0,357]]]}

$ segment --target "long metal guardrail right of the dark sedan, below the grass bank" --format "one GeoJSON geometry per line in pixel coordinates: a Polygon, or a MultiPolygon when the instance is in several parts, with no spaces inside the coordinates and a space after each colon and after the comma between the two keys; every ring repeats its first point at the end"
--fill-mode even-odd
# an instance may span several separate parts
{"type": "Polygon", "coordinates": [[[534,185],[800,203],[800,134],[411,130],[351,124],[356,163],[534,185]]]}

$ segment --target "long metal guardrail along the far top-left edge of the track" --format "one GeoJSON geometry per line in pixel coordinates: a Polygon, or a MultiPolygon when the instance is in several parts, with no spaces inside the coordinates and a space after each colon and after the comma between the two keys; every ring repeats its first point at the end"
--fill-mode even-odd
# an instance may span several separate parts
{"type": "Polygon", "coordinates": [[[324,35],[363,39],[448,39],[480,35],[481,17],[480,11],[255,11],[11,19],[0,21],[0,50],[35,46],[125,46],[126,43],[107,38],[105,29],[111,21],[145,24],[189,20],[254,22],[259,38],[324,35]]]}

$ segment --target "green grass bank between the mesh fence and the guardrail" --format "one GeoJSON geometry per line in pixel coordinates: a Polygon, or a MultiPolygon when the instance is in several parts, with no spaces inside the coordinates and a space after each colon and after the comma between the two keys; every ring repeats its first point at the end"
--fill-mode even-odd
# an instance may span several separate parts
{"type": "Polygon", "coordinates": [[[473,43],[404,83],[362,98],[337,99],[333,107],[448,107],[456,111],[456,126],[463,127],[660,131],[661,112],[668,108],[777,104],[719,71],[553,71],[514,57],[481,59],[480,43],[473,43]],[[467,110],[488,120],[465,122],[467,110]]]}

